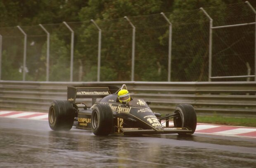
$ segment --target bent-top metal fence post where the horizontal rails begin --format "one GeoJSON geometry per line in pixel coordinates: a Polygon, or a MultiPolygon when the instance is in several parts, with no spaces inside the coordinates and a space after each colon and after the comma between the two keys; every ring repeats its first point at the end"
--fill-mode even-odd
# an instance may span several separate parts
{"type": "Polygon", "coordinates": [[[204,14],[210,20],[210,28],[209,28],[209,71],[208,71],[208,81],[211,82],[211,65],[212,65],[212,27],[213,27],[213,19],[207,14],[204,8],[200,7],[200,9],[204,12],[204,14]]]}

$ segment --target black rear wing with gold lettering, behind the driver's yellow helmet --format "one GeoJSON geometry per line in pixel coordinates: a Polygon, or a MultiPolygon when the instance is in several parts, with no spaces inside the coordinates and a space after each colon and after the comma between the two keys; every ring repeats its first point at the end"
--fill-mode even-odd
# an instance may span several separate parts
{"type": "Polygon", "coordinates": [[[109,94],[114,94],[119,90],[116,86],[68,86],[68,101],[76,102],[76,98],[103,98],[109,94]]]}

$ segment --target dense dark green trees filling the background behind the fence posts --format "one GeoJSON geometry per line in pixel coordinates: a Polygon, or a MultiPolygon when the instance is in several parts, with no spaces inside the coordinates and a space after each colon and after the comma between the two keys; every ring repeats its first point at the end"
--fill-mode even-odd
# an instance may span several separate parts
{"type": "MultiPolygon", "coordinates": [[[[102,32],[100,80],[130,81],[132,27],[123,18],[123,16],[128,16],[136,27],[135,81],[167,81],[169,30],[168,23],[160,12],[171,12],[167,16],[173,24],[171,81],[207,81],[209,19],[202,14],[199,8],[208,7],[209,12],[213,11],[211,16],[218,18],[214,20],[214,25],[222,25],[229,22],[230,15],[235,15],[235,13],[223,12],[226,10],[225,4],[236,2],[242,1],[4,0],[0,1],[0,28],[83,21],[79,28],[74,27],[76,34],[73,76],[75,81],[97,81],[98,29],[90,22],[90,19],[94,19],[102,32]],[[159,14],[159,16],[149,16],[149,14],[159,14]]],[[[254,3],[252,2],[253,6],[254,3]]],[[[50,32],[50,81],[69,81],[70,32],[62,24],[52,29],[50,32]]],[[[214,30],[213,41],[222,43],[213,46],[213,54],[217,53],[218,56],[220,53],[220,56],[214,57],[213,66],[218,67],[220,62],[224,65],[222,68],[216,68],[213,76],[218,76],[223,71],[230,73],[232,67],[239,66],[240,62],[244,65],[249,62],[253,67],[251,62],[254,60],[251,58],[246,61],[239,58],[239,61],[234,62],[232,57],[221,55],[232,53],[239,56],[240,49],[235,46],[235,42],[240,39],[233,37],[236,31],[219,33],[214,30]],[[234,47],[229,48],[233,41],[234,47]]],[[[1,33],[3,32],[0,29],[1,33]]],[[[253,41],[250,33],[241,32],[245,38],[248,38],[248,41],[253,41]]],[[[5,56],[2,57],[2,62],[4,62],[2,67],[7,68],[2,71],[4,80],[21,80],[22,78],[19,68],[23,62],[23,37],[21,32],[16,36],[18,39],[12,41],[10,37],[4,41],[5,56]]],[[[33,36],[30,35],[29,38],[33,39],[33,36]]],[[[33,39],[35,45],[28,45],[27,67],[29,72],[26,74],[26,80],[45,81],[46,42],[41,36],[40,34],[38,39],[33,39]]],[[[239,45],[242,48],[247,46],[247,44],[239,45]]],[[[251,48],[247,51],[248,53],[254,52],[251,48]]],[[[244,71],[239,73],[237,75],[245,75],[244,71]]]]}

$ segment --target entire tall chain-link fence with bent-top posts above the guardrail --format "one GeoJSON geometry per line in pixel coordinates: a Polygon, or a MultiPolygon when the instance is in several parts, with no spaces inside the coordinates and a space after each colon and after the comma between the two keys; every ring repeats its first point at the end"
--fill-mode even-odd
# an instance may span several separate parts
{"type": "Polygon", "coordinates": [[[0,79],[254,81],[255,16],[249,3],[237,3],[0,28],[0,79]]]}

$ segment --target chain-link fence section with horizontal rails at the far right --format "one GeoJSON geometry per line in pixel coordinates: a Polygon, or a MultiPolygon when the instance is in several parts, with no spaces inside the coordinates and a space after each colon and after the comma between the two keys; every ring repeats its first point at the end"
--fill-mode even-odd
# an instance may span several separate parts
{"type": "Polygon", "coordinates": [[[213,19],[210,75],[213,79],[242,77],[243,81],[249,81],[255,75],[255,10],[246,3],[205,10],[213,19]]]}

